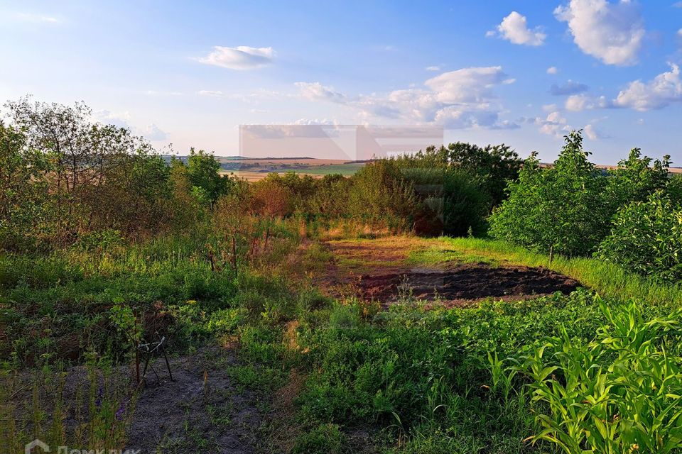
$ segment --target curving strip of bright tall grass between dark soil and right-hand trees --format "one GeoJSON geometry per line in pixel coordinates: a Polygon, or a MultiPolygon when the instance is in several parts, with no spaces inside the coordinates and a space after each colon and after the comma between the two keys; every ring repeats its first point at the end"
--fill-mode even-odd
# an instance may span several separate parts
{"type": "Polygon", "coordinates": [[[503,241],[480,238],[440,238],[443,248],[457,253],[475,255],[500,263],[546,267],[573,277],[585,287],[596,290],[605,297],[623,301],[682,306],[682,285],[665,284],[654,279],[628,272],[622,267],[595,258],[565,258],[555,256],[550,262],[547,255],[531,252],[503,241]]]}

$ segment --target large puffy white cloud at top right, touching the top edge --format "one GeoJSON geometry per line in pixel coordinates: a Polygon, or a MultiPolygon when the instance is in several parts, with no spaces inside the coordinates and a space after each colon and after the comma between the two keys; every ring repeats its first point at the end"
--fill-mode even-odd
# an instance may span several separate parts
{"type": "Polygon", "coordinates": [[[554,15],[567,22],[575,44],[607,65],[634,65],[642,48],[644,26],[630,0],[570,0],[554,15]]]}

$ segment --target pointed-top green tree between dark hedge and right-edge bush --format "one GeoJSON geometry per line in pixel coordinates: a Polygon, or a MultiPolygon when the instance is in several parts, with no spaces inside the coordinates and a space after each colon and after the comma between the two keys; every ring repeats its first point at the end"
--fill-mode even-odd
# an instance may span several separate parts
{"type": "Polygon", "coordinates": [[[580,131],[573,131],[553,166],[543,170],[535,157],[526,161],[519,180],[509,184],[509,199],[490,218],[491,235],[545,253],[592,253],[610,216],[606,179],[589,155],[580,131]]]}

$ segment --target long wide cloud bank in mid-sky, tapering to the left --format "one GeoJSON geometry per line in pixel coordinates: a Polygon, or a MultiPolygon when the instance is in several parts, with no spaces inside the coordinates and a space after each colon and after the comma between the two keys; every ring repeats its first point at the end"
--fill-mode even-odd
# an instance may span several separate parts
{"type": "Polygon", "coordinates": [[[364,121],[390,118],[446,128],[518,128],[499,118],[502,106],[494,87],[513,83],[502,67],[470,67],[444,72],[426,80],[423,87],[397,89],[384,94],[347,96],[319,82],[298,82],[301,96],[348,106],[364,121]]]}

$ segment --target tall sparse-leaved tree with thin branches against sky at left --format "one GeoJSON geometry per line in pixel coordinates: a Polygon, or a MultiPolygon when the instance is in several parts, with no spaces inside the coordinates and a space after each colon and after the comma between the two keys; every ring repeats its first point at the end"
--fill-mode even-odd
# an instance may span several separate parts
{"type": "Polygon", "coordinates": [[[93,190],[134,153],[150,153],[151,145],[126,128],[93,123],[92,111],[33,102],[29,97],[6,104],[13,124],[26,135],[26,146],[51,163],[50,215],[56,240],[70,242],[93,221],[93,209],[111,200],[93,190]]]}

